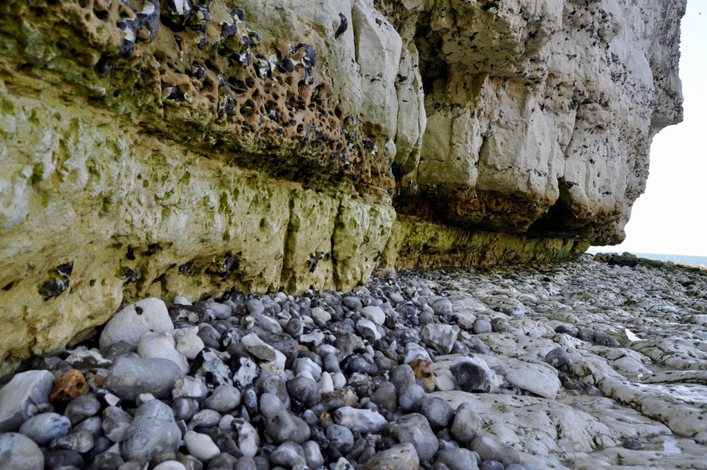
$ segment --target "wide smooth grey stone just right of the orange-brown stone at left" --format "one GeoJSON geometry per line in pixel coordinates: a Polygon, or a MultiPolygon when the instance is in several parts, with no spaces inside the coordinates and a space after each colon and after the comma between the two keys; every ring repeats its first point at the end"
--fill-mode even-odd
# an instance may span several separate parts
{"type": "Polygon", "coordinates": [[[182,370],[168,359],[118,358],[105,379],[105,387],[124,400],[134,401],[139,394],[158,399],[172,394],[182,370]]]}

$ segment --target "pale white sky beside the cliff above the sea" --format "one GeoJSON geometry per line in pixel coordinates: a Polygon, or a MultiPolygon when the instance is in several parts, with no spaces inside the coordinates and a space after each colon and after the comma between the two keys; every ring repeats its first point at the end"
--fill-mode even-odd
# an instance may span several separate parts
{"type": "Polygon", "coordinates": [[[645,193],[633,205],[626,240],[604,252],[707,256],[707,1],[688,0],[680,39],[683,122],[650,147],[645,193]]]}

